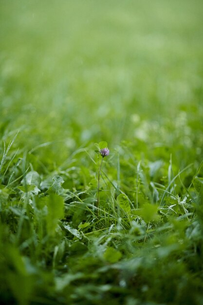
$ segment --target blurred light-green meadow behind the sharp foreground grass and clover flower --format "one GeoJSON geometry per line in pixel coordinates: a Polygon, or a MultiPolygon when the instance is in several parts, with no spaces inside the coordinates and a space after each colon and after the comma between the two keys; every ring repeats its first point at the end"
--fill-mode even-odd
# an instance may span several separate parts
{"type": "Polygon", "coordinates": [[[58,163],[101,140],[200,160],[202,17],[202,0],[0,0],[1,138],[55,141],[37,153],[58,163]]]}

